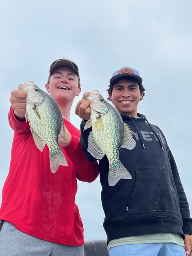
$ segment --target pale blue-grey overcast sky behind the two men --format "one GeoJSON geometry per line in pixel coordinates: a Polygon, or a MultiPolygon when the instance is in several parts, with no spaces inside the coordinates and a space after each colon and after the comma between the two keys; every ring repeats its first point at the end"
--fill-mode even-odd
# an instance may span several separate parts
{"type": "MultiPolygon", "coordinates": [[[[6,0],[0,4],[0,192],[8,174],[13,131],[10,92],[32,80],[44,89],[56,58],[78,64],[82,92],[106,98],[111,74],[139,70],[146,88],[138,112],[164,132],[192,212],[192,1],[185,0],[6,0]]],[[[76,203],[85,239],[105,239],[99,178],[78,182],[76,203]]]]}

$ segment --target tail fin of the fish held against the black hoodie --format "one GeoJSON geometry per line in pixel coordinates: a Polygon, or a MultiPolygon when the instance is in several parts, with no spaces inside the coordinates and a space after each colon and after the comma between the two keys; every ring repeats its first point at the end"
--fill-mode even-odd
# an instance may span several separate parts
{"type": "Polygon", "coordinates": [[[112,166],[109,166],[109,186],[115,186],[120,179],[132,179],[131,174],[121,162],[117,168],[112,168],[112,166]]]}

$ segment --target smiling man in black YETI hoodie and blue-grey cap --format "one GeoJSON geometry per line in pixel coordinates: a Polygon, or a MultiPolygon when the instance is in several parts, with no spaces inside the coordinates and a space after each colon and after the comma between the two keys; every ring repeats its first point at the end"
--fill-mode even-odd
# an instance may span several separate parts
{"type": "MultiPolygon", "coordinates": [[[[120,148],[119,157],[132,179],[108,184],[108,159],[99,160],[104,229],[110,256],[185,256],[192,246],[192,218],[176,163],[158,126],[137,112],[145,88],[137,70],[123,67],[112,74],[108,100],[130,127],[136,146],[120,148]]],[[[90,102],[82,99],[76,114],[83,118],[80,142],[87,152],[90,102]]]]}

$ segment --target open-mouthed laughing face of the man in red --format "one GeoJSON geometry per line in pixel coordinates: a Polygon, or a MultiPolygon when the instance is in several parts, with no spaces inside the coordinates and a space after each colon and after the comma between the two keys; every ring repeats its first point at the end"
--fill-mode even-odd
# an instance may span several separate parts
{"type": "Polygon", "coordinates": [[[57,102],[64,99],[73,101],[81,92],[81,88],[78,88],[78,76],[68,67],[54,70],[49,84],[46,84],[46,90],[57,102]]]}

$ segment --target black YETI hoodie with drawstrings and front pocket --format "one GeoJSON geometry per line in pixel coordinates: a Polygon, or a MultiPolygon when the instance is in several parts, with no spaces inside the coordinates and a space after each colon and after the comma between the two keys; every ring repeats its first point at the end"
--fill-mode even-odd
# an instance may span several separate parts
{"type": "MultiPolygon", "coordinates": [[[[120,148],[120,161],[132,179],[121,179],[115,186],[108,184],[107,157],[99,160],[108,242],[160,232],[181,234],[183,238],[184,234],[192,234],[188,201],[164,134],[142,114],[138,114],[139,118],[121,116],[136,146],[132,150],[120,148]]],[[[88,160],[95,161],[87,152],[90,129],[83,131],[85,123],[82,120],[80,143],[88,160]]]]}

